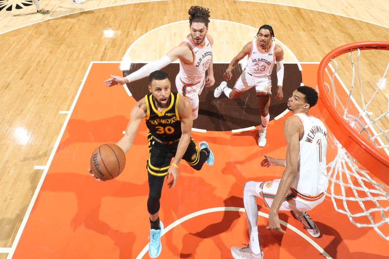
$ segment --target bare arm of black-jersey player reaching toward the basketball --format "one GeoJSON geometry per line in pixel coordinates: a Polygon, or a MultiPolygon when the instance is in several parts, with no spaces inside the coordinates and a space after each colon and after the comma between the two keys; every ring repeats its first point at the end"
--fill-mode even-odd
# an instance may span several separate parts
{"type": "Polygon", "coordinates": [[[125,134],[123,138],[120,139],[117,143],[117,145],[123,149],[124,153],[126,153],[131,148],[139,124],[141,123],[141,120],[146,117],[146,113],[146,102],[143,98],[132,108],[131,118],[125,130],[125,134]]]}

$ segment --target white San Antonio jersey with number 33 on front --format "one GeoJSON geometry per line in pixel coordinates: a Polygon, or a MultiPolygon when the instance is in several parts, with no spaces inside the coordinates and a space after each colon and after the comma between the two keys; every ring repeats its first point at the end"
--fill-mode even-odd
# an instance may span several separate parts
{"type": "Polygon", "coordinates": [[[246,72],[255,77],[268,77],[270,79],[271,72],[276,62],[276,46],[275,42],[271,42],[271,46],[267,52],[261,52],[257,45],[257,40],[251,41],[251,51],[248,55],[246,72]]]}

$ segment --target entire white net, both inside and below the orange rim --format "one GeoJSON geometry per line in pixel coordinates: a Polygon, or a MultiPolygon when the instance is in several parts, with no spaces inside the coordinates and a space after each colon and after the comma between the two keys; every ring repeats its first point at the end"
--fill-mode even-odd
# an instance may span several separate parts
{"type": "MultiPolygon", "coordinates": [[[[385,55],[382,56],[383,51],[372,52],[381,52],[377,55],[386,58],[385,55]]],[[[344,67],[347,56],[343,54],[331,59],[324,70],[327,75],[324,86],[327,86],[330,99],[343,119],[377,150],[388,156],[389,62],[381,66],[385,69],[377,77],[378,80],[377,78],[366,80],[367,76],[362,77],[361,71],[368,71],[371,59],[361,62],[361,51],[359,49],[351,51],[349,53],[351,69],[348,67],[346,69],[348,72],[344,72],[339,67],[344,67]],[[345,83],[341,78],[347,75],[351,80],[345,83]]],[[[374,53],[368,56],[371,58],[374,53]]],[[[387,58],[389,60],[389,55],[387,58]]],[[[368,76],[371,78],[371,74],[368,76]]],[[[327,196],[331,197],[336,211],[347,215],[354,225],[372,227],[381,237],[389,241],[389,183],[380,182],[374,177],[374,172],[366,171],[336,138],[334,143],[337,155],[334,161],[327,165],[329,178],[327,196]]],[[[389,170],[377,173],[389,173],[389,170]]]]}

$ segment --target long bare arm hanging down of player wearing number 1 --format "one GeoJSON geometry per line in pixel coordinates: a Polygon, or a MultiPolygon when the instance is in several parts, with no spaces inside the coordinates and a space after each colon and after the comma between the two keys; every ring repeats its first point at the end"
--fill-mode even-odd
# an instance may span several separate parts
{"type": "Polygon", "coordinates": [[[286,193],[290,189],[293,180],[297,176],[297,163],[300,153],[300,131],[302,124],[296,116],[291,116],[283,123],[283,134],[286,138],[286,168],[281,177],[276,196],[269,211],[268,228],[285,232],[281,228],[278,211],[283,203],[286,193]]]}

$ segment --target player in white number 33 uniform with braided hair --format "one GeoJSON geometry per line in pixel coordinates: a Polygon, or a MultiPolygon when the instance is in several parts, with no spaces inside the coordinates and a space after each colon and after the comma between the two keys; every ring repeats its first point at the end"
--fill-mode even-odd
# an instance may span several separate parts
{"type": "Polygon", "coordinates": [[[266,128],[269,122],[269,106],[271,97],[271,72],[274,63],[277,63],[277,93],[276,100],[283,99],[283,49],[274,41],[273,28],[270,25],[262,25],[257,33],[257,39],[249,42],[242,51],[234,57],[224,73],[224,79],[230,80],[232,69],[238,65],[239,61],[248,55],[246,69],[236,81],[233,89],[223,81],[216,87],[213,95],[218,98],[222,92],[230,99],[237,99],[239,96],[255,87],[261,113],[261,128],[259,130],[258,145],[266,145],[266,128]]]}

